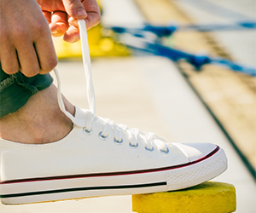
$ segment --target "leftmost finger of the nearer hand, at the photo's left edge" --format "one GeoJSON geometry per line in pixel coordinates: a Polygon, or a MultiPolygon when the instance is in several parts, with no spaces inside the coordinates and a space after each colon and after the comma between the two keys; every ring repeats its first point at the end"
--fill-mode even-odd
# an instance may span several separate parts
{"type": "Polygon", "coordinates": [[[11,75],[19,71],[20,65],[15,47],[2,46],[0,60],[2,64],[2,69],[7,74],[11,75]]]}

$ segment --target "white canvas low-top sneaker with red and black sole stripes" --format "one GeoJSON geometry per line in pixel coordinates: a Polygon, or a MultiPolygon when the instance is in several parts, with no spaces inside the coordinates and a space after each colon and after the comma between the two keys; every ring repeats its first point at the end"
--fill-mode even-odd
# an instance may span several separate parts
{"type": "MultiPolygon", "coordinates": [[[[85,68],[88,77],[90,63],[85,68]]],[[[216,145],[169,143],[97,117],[88,85],[91,108],[76,107],[74,118],[65,111],[59,87],[61,110],[74,123],[61,141],[29,145],[0,140],[3,204],[164,192],[195,186],[226,170],[227,158],[216,145]]]]}

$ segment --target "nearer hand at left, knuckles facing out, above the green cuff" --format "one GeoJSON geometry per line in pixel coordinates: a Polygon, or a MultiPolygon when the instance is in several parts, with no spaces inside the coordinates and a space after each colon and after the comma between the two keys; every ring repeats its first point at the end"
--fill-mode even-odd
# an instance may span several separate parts
{"type": "Polygon", "coordinates": [[[0,1],[0,62],[4,72],[20,70],[27,77],[57,65],[47,20],[35,0],[0,1]]]}

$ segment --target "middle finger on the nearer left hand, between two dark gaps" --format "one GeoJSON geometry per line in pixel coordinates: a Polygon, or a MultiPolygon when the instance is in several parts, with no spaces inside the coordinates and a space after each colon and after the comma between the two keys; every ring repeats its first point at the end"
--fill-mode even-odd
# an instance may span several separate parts
{"type": "Polygon", "coordinates": [[[39,73],[38,56],[32,43],[20,43],[17,49],[20,71],[26,77],[37,75],[39,73]]]}

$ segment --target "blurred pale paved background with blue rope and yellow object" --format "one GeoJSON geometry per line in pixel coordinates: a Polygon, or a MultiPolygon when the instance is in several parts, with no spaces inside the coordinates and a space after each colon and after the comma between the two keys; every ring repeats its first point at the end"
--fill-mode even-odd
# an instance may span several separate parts
{"type": "MultiPolygon", "coordinates": [[[[175,142],[223,147],[236,212],[256,212],[254,0],[99,0],[88,32],[96,114],[175,142]]],[[[63,94],[88,108],[80,43],[54,37],[63,94]]],[[[3,213],[128,213],[131,196],[4,206],[3,213]]]]}

